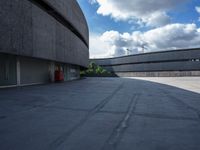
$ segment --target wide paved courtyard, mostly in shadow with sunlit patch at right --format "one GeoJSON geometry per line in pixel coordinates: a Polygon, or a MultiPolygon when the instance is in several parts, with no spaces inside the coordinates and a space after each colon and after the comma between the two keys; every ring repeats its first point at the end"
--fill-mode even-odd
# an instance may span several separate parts
{"type": "Polygon", "coordinates": [[[0,150],[199,150],[200,77],[0,89],[0,150]]]}

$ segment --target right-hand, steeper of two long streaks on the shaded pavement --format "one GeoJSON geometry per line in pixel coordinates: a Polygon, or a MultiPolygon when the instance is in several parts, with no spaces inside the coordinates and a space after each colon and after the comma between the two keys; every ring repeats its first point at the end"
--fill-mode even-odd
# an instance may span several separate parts
{"type": "Polygon", "coordinates": [[[105,142],[105,144],[101,150],[115,150],[117,148],[125,130],[129,126],[129,120],[136,109],[136,105],[138,103],[139,96],[140,96],[139,94],[133,95],[125,116],[123,117],[122,121],[120,121],[118,126],[114,129],[113,133],[110,135],[108,140],[105,142]]]}

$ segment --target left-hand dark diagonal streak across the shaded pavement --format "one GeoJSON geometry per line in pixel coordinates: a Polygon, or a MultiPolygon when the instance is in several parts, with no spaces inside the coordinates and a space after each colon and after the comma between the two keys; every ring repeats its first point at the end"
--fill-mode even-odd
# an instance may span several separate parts
{"type": "Polygon", "coordinates": [[[63,135],[61,135],[60,137],[58,137],[56,140],[54,140],[52,143],[50,143],[50,146],[48,148],[48,150],[52,149],[55,150],[59,147],[59,145],[61,145],[62,143],[64,143],[69,137],[70,135],[76,131],[79,127],[81,127],[87,120],[89,120],[92,116],[94,116],[98,111],[100,111],[111,99],[112,97],[119,91],[121,90],[123,87],[123,83],[121,83],[113,92],[112,94],[110,94],[108,97],[106,97],[105,99],[103,99],[99,104],[97,104],[92,110],[90,110],[86,116],[80,120],[75,126],[73,126],[70,130],[68,130],[67,132],[65,132],[63,135]]]}

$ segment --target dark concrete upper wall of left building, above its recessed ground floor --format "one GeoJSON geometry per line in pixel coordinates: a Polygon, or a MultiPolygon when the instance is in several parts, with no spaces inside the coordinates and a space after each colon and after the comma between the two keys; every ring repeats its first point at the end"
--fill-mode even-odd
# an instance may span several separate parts
{"type": "MultiPolygon", "coordinates": [[[[71,12],[68,19],[71,19],[71,22],[76,25],[75,28],[79,29],[88,41],[87,23],[78,4],[74,0],[59,0],[54,3],[52,1],[53,4],[63,14],[71,12]],[[64,7],[67,4],[70,6],[64,7]],[[57,5],[62,6],[62,9],[57,5]]],[[[83,67],[88,65],[89,50],[86,44],[71,30],[32,2],[1,0],[0,14],[0,52],[83,67]]]]}

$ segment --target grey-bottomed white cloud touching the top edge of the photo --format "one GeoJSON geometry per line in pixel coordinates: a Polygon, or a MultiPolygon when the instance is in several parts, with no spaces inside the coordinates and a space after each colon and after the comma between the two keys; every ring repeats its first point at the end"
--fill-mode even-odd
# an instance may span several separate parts
{"type": "Polygon", "coordinates": [[[115,20],[137,20],[148,26],[163,26],[170,23],[167,12],[186,0],[95,0],[98,14],[115,20]]]}

